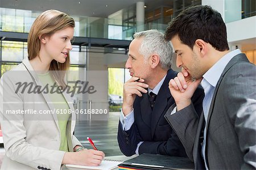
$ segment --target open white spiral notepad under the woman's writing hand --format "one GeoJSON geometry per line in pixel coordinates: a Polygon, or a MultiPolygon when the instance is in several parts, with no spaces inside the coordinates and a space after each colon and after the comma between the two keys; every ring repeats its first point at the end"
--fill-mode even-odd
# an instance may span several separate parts
{"type": "Polygon", "coordinates": [[[85,165],[72,165],[72,164],[66,164],[66,167],[69,169],[97,169],[97,170],[109,170],[109,169],[114,169],[118,167],[118,164],[121,164],[123,161],[121,160],[109,160],[109,159],[104,159],[101,161],[101,164],[98,165],[97,167],[90,167],[90,166],[85,166],[85,165]]]}

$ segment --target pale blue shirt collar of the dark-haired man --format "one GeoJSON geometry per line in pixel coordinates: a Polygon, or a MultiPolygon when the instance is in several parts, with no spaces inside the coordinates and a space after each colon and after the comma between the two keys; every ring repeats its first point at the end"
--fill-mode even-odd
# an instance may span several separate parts
{"type": "MultiPolygon", "coordinates": [[[[204,75],[202,82],[207,81],[210,85],[215,87],[217,85],[218,80],[222,72],[224,71],[226,65],[228,65],[229,61],[236,55],[241,53],[240,49],[236,49],[234,51],[230,51],[225,56],[221,57],[220,60],[217,61],[204,75]]],[[[204,84],[204,83],[203,83],[204,84]]],[[[202,86],[203,86],[202,84],[202,86]]],[[[204,87],[203,87],[204,88],[204,87]]]]}

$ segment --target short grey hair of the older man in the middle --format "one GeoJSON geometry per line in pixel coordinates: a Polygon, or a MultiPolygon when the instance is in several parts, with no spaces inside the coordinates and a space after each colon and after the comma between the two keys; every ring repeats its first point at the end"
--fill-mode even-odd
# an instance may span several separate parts
{"type": "Polygon", "coordinates": [[[172,65],[172,45],[164,39],[164,34],[158,30],[147,30],[136,32],[133,35],[134,39],[142,39],[139,53],[144,59],[148,59],[150,55],[156,53],[160,56],[160,65],[163,69],[170,69],[172,65]]]}

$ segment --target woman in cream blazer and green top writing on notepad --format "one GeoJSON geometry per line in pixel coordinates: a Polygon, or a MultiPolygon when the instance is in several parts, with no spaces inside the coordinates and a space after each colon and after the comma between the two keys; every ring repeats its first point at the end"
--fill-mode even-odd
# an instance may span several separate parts
{"type": "Polygon", "coordinates": [[[28,34],[28,57],[1,77],[0,113],[6,151],[1,169],[97,166],[105,156],[102,151],[86,150],[73,135],[75,109],[64,89],[74,27],[73,18],[60,11],[40,14],[28,34]],[[50,86],[55,90],[49,90],[50,86]],[[66,110],[66,114],[56,110],[66,110]]]}

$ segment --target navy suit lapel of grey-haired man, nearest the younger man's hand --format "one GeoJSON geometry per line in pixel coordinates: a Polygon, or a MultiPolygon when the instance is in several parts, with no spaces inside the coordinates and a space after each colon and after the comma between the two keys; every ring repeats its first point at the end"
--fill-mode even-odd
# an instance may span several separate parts
{"type": "Polygon", "coordinates": [[[153,137],[155,134],[156,127],[158,126],[159,119],[163,114],[165,114],[166,107],[170,107],[170,103],[174,101],[174,98],[171,98],[171,93],[168,88],[169,81],[176,77],[177,73],[170,69],[167,72],[166,78],[158,92],[158,96],[156,97],[155,106],[152,110],[151,115],[151,136],[153,137]]]}

